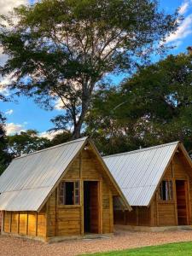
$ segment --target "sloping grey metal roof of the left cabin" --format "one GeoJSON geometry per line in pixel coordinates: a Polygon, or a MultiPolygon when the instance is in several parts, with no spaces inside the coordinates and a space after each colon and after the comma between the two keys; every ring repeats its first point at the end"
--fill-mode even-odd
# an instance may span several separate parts
{"type": "Polygon", "coordinates": [[[38,211],[87,137],[16,158],[0,177],[0,210],[38,211]]]}

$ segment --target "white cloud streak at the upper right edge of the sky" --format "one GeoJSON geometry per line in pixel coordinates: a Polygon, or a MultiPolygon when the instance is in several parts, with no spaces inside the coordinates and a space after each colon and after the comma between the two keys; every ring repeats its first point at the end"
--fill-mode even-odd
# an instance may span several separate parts
{"type": "Polygon", "coordinates": [[[174,43],[177,40],[181,41],[183,38],[192,33],[192,15],[188,15],[178,26],[177,31],[166,38],[167,43],[174,43]]]}

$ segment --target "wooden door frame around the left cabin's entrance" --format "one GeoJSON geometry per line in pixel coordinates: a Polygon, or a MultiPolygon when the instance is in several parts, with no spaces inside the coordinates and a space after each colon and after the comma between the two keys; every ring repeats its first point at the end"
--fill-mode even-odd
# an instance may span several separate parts
{"type": "Polygon", "coordinates": [[[98,186],[98,234],[102,234],[102,180],[85,178],[81,181],[81,234],[84,235],[84,182],[97,182],[98,186]]]}

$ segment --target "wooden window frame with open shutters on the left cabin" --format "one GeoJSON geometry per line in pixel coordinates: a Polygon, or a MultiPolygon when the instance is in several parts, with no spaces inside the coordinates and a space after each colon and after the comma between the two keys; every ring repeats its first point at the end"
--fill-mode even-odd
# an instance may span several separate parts
{"type": "MultiPolygon", "coordinates": [[[[64,186],[63,186],[64,187],[64,186]]],[[[58,191],[57,191],[57,204],[59,207],[79,207],[80,206],[80,180],[62,180],[61,183],[59,183],[58,191]],[[61,184],[65,183],[73,183],[73,204],[63,204],[63,201],[61,202],[61,184]],[[76,186],[78,184],[78,186],[76,186]],[[77,195],[77,194],[79,195],[77,195]],[[76,198],[78,198],[77,203],[75,203],[76,198]]],[[[63,191],[63,199],[66,198],[66,195],[63,191]]],[[[66,201],[66,200],[65,200],[66,201]]]]}

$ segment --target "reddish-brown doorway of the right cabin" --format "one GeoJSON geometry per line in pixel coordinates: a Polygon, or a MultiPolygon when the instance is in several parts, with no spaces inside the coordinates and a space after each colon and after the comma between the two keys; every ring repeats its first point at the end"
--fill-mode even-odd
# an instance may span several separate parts
{"type": "Polygon", "coordinates": [[[189,224],[188,188],[185,180],[176,180],[178,225],[189,224]]]}

